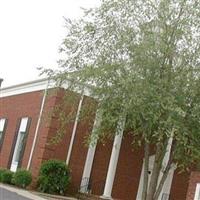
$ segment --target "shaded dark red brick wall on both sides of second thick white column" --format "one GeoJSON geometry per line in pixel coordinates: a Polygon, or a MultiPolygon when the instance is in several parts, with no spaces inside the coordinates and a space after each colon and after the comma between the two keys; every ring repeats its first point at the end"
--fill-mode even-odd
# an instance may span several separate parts
{"type": "MultiPolygon", "coordinates": [[[[116,199],[136,199],[143,162],[143,151],[132,150],[131,135],[123,139],[112,197],[116,199]]],[[[98,144],[91,173],[92,193],[102,195],[106,181],[113,141],[98,144]]]]}

